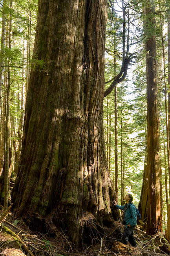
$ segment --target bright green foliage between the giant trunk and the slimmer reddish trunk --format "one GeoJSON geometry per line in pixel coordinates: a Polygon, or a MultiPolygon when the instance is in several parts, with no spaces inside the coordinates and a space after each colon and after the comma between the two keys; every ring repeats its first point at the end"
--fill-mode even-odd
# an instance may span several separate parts
{"type": "MultiPolygon", "coordinates": [[[[135,6],[131,5],[131,7],[136,8],[137,11],[139,11],[137,4],[135,6]]],[[[128,11],[128,7],[126,9],[128,11]]],[[[139,35],[141,33],[141,26],[138,25],[139,23],[137,24],[141,14],[136,18],[136,15],[133,15],[134,11],[137,12],[135,9],[129,12],[131,15],[130,21],[132,20],[131,28],[133,28],[133,35],[130,34],[130,41],[133,43],[134,40],[139,40],[139,35]]],[[[122,58],[122,17],[120,13],[116,12],[115,10],[112,15],[112,10],[109,8],[108,18],[109,20],[106,30],[106,82],[111,80],[113,76],[119,73],[122,58]]],[[[142,38],[142,35],[140,36],[142,38]]],[[[138,54],[138,58],[141,58],[141,61],[144,63],[144,57],[142,53],[140,55],[138,54]]],[[[136,72],[142,72],[141,70],[142,69],[138,68],[136,72]]],[[[140,77],[139,74],[135,74],[134,71],[130,72],[130,76],[133,77],[133,81],[135,77],[137,79],[140,77]]],[[[138,81],[137,79],[135,82],[138,81]]],[[[134,88],[131,84],[130,91],[129,85],[132,83],[131,80],[127,76],[121,85],[117,85],[119,197],[121,195],[121,168],[123,168],[125,193],[131,191],[131,193],[135,195],[135,203],[137,203],[140,198],[140,191],[142,187],[143,163],[145,155],[146,83],[144,81],[146,79],[141,78],[141,81],[139,80],[138,88],[135,82],[134,88]],[[140,88],[141,83],[143,83],[143,88],[140,88]],[[139,94],[137,94],[138,89],[140,91],[139,94]],[[139,98],[139,95],[141,99],[139,98]],[[121,154],[123,154],[123,163],[121,154]]],[[[109,85],[110,83],[107,83],[106,88],[109,85]]],[[[107,99],[104,99],[104,132],[106,138],[106,154],[108,158],[108,150],[111,148],[111,159],[109,161],[111,165],[110,172],[113,177],[115,169],[114,108],[114,93],[112,92],[107,96],[107,99]]]]}

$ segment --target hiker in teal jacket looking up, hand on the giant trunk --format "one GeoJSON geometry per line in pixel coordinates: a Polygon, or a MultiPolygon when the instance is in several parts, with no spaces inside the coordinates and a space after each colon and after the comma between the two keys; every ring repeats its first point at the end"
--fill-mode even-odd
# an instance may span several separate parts
{"type": "Polygon", "coordinates": [[[122,235],[122,243],[124,245],[129,243],[136,247],[136,240],[133,236],[133,232],[135,230],[136,222],[137,222],[137,215],[136,215],[136,209],[135,206],[132,204],[133,197],[130,194],[127,194],[124,197],[124,200],[126,201],[125,205],[118,205],[117,202],[114,200],[113,204],[120,210],[124,210],[123,213],[123,224],[125,225],[125,230],[122,235]]]}

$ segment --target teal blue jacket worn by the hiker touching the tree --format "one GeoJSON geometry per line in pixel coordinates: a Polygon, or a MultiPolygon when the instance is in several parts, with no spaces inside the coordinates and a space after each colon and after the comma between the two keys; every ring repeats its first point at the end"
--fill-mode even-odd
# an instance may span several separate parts
{"type": "Polygon", "coordinates": [[[125,212],[125,222],[126,222],[126,228],[128,224],[130,226],[136,226],[137,222],[137,215],[136,215],[136,209],[133,204],[129,205],[131,203],[125,204],[125,205],[116,205],[116,207],[120,210],[124,210],[126,206],[126,212],[125,212]]]}

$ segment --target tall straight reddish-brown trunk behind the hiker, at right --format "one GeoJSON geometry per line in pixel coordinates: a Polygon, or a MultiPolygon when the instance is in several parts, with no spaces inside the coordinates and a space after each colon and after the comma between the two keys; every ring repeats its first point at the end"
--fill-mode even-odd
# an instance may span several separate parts
{"type": "Polygon", "coordinates": [[[147,140],[148,140],[148,220],[146,232],[161,231],[161,192],[159,167],[159,124],[157,109],[157,65],[154,2],[147,0],[144,8],[144,32],[147,81],[147,140]]]}

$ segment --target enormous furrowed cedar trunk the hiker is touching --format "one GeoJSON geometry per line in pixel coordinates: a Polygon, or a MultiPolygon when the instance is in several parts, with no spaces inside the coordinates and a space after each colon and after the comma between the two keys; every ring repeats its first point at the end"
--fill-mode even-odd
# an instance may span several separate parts
{"type": "Polygon", "coordinates": [[[103,133],[106,14],[106,0],[38,5],[34,54],[46,68],[30,75],[14,209],[18,217],[55,211],[75,243],[87,211],[113,223],[103,133]]]}

